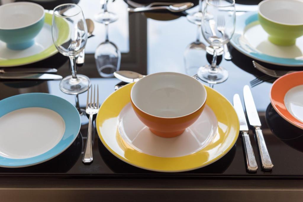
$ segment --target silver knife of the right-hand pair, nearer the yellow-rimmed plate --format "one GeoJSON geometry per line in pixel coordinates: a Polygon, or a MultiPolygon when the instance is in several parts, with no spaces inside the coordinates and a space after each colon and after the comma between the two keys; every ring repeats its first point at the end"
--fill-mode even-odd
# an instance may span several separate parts
{"type": "Polygon", "coordinates": [[[240,132],[242,134],[243,147],[245,151],[246,169],[248,172],[256,172],[258,169],[258,165],[256,162],[254,151],[251,147],[248,135],[248,126],[246,123],[246,118],[239,94],[234,95],[234,108],[238,114],[238,118],[240,121],[240,132]]]}

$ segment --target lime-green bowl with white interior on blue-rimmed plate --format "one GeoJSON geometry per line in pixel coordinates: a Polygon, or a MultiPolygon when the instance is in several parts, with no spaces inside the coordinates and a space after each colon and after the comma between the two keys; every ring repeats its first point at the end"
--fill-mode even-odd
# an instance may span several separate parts
{"type": "Polygon", "coordinates": [[[271,43],[290,46],[303,35],[302,0],[265,0],[258,8],[259,22],[271,43]]]}

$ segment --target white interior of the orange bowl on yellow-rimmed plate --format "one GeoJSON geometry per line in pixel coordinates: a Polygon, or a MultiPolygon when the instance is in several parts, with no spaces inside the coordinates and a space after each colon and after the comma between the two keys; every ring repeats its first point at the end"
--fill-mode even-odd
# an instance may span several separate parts
{"type": "Polygon", "coordinates": [[[206,101],[206,89],[190,76],[163,72],[140,79],[132,88],[131,98],[148,114],[173,118],[199,109],[206,101]]]}

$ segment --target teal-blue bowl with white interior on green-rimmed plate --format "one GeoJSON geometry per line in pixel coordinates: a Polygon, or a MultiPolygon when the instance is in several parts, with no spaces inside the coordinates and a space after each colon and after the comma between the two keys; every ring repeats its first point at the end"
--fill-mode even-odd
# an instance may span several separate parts
{"type": "Polygon", "coordinates": [[[23,50],[35,43],[44,25],[44,8],[30,2],[0,6],[0,40],[7,48],[23,50]]]}

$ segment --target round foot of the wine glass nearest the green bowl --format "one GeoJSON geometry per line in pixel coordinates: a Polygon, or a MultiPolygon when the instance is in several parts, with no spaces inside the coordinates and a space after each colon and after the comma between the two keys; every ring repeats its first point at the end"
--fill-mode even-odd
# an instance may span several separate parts
{"type": "Polygon", "coordinates": [[[209,84],[222,83],[228,78],[228,71],[220,66],[217,66],[215,70],[212,70],[211,65],[200,67],[197,74],[202,81],[209,84]]]}

